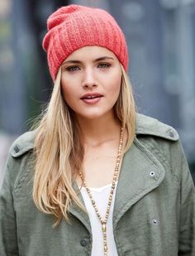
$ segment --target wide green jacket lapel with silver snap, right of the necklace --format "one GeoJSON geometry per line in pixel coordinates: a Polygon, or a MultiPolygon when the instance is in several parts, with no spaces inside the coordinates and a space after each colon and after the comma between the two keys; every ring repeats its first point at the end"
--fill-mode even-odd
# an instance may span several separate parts
{"type": "Polygon", "coordinates": [[[114,228],[126,210],[164,180],[164,167],[136,138],[121,165],[113,212],[114,228]]]}

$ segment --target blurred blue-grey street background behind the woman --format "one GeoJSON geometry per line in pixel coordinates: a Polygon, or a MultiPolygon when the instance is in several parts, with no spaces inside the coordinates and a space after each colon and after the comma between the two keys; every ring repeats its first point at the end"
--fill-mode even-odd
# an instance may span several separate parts
{"type": "Polygon", "coordinates": [[[70,3],[102,7],[117,19],[137,108],[178,130],[195,178],[195,0],[0,0],[0,181],[13,139],[52,89],[41,47],[46,19],[70,3]]]}

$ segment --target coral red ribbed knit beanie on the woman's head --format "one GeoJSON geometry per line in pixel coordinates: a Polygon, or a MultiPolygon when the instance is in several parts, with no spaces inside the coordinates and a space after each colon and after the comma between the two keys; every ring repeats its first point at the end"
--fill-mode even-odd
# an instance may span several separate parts
{"type": "Polygon", "coordinates": [[[102,9],[80,5],[60,7],[48,18],[47,29],[43,48],[54,81],[59,66],[83,46],[106,47],[128,69],[125,36],[115,19],[102,9]]]}

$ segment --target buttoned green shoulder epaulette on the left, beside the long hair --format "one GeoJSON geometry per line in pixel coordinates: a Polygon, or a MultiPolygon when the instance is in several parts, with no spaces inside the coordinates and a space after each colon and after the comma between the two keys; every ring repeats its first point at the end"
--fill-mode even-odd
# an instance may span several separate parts
{"type": "Polygon", "coordinates": [[[12,157],[20,157],[21,155],[34,148],[36,132],[37,131],[34,130],[31,132],[23,133],[12,143],[12,147],[10,148],[12,157]]]}

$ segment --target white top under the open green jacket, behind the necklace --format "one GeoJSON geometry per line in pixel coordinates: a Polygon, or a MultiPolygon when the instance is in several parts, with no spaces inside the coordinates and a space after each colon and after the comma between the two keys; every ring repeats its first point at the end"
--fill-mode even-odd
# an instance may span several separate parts
{"type": "MultiPolygon", "coordinates": [[[[104,220],[107,211],[107,203],[108,197],[111,191],[112,184],[107,186],[102,186],[98,188],[89,187],[90,191],[92,192],[93,199],[96,202],[98,207],[99,213],[104,220]]],[[[116,182],[117,186],[117,182],[116,182]]],[[[83,196],[84,204],[88,210],[88,216],[92,227],[92,234],[93,234],[93,244],[92,244],[92,254],[91,256],[102,256],[103,255],[103,237],[102,237],[102,225],[98,216],[93,208],[92,202],[88,196],[88,192],[86,191],[85,187],[81,188],[81,194],[83,196]]],[[[110,213],[107,219],[107,255],[108,256],[117,256],[117,247],[114,240],[113,235],[113,225],[112,225],[112,215],[113,215],[113,206],[114,200],[116,196],[116,188],[114,190],[114,194],[112,197],[112,205],[110,209],[110,213]]]]}

